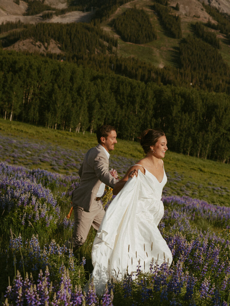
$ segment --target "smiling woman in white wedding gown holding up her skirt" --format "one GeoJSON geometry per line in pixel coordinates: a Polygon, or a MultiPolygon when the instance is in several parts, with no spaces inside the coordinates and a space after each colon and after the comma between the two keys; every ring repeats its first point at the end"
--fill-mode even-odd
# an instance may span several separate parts
{"type": "Polygon", "coordinates": [[[145,157],[131,166],[113,189],[109,205],[94,239],[92,263],[96,292],[108,280],[120,281],[136,267],[149,272],[150,263],[170,265],[172,254],[157,226],[163,217],[162,189],[167,182],[163,160],[167,140],[162,130],[148,129],[140,136],[145,157]]]}

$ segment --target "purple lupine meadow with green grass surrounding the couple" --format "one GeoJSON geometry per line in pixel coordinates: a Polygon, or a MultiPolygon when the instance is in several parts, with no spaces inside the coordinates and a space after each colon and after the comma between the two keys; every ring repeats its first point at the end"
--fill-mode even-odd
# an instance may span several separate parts
{"type": "MultiPolygon", "coordinates": [[[[2,305],[230,305],[230,207],[221,202],[229,198],[224,182],[209,181],[204,168],[203,184],[176,168],[167,171],[159,230],[171,249],[171,266],[152,258],[145,271],[136,258],[131,275],[108,283],[97,296],[93,282],[83,291],[93,268],[95,230],[75,252],[63,245],[73,229],[73,216],[66,215],[86,147],[67,148],[22,134],[0,133],[0,138],[2,305]],[[215,203],[209,201],[213,195],[215,203]]],[[[110,157],[120,176],[138,160],[128,154],[110,157]]],[[[103,200],[107,207],[113,197],[103,200]]]]}

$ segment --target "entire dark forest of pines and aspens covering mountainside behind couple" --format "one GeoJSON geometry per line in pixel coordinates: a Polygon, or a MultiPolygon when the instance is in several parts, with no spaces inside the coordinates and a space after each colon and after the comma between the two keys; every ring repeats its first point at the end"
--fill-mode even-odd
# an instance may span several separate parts
{"type": "MultiPolygon", "coordinates": [[[[27,2],[27,14],[32,14],[33,7],[34,13],[50,9],[44,1],[27,2]]],[[[181,19],[175,13],[179,7],[173,10],[167,1],[153,2],[149,9],[160,26],[179,41],[174,64],[158,68],[137,57],[119,55],[116,35],[100,26],[125,3],[70,2],[69,11],[98,7],[100,18],[95,14],[91,23],[2,23],[2,118],[75,132],[94,132],[98,125],[108,123],[127,140],[136,140],[143,129],[158,126],[171,139],[171,150],[228,163],[230,71],[217,35],[210,32],[214,25],[196,22],[182,38],[181,19]],[[26,39],[39,42],[47,52],[4,50],[26,39]],[[59,54],[48,52],[53,41],[59,45],[59,54]],[[133,118],[135,125],[130,124],[133,118]]],[[[217,21],[218,31],[229,32],[228,15],[205,4],[203,10],[217,21]]],[[[110,24],[121,39],[134,45],[158,43],[148,12],[136,6],[110,24]]]]}

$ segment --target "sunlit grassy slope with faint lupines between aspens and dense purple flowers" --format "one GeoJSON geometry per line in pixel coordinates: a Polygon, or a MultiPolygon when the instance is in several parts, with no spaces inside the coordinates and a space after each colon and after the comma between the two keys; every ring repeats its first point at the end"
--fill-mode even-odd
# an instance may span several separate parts
{"type": "MultiPolygon", "coordinates": [[[[167,135],[166,135],[167,136],[167,135]]],[[[29,168],[77,174],[84,153],[97,144],[95,134],[46,129],[0,119],[1,160],[29,168]]],[[[230,166],[170,151],[164,159],[168,182],[163,195],[191,196],[229,206],[230,166]]],[[[122,176],[143,157],[140,144],[118,139],[110,166],[122,176]]]]}

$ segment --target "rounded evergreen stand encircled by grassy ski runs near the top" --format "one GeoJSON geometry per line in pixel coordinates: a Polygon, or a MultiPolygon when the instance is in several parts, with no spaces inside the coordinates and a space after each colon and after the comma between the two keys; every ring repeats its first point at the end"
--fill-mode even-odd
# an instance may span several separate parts
{"type": "Polygon", "coordinates": [[[121,39],[130,43],[149,43],[156,39],[149,16],[142,9],[127,9],[114,20],[113,26],[121,39]]]}

